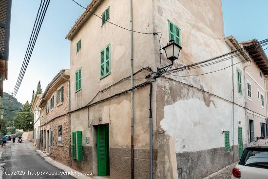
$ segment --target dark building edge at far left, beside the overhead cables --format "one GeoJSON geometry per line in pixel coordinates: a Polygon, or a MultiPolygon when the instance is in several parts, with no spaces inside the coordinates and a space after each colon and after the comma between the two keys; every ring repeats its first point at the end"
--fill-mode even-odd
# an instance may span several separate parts
{"type": "Polygon", "coordinates": [[[0,97],[3,81],[7,80],[11,3],[12,0],[0,0],[0,97]]]}

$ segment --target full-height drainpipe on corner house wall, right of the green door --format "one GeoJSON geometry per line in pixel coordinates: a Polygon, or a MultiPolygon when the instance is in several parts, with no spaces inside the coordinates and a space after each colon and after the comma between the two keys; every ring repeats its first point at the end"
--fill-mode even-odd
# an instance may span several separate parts
{"type": "MultiPolygon", "coordinates": [[[[130,87],[133,88],[133,7],[132,0],[130,0],[130,87]]],[[[134,94],[133,89],[131,90],[131,179],[134,179],[134,94]]]]}

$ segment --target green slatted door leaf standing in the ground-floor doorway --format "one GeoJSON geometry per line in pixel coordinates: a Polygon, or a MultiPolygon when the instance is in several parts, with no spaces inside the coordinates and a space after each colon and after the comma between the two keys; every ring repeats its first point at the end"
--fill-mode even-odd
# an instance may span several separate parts
{"type": "Polygon", "coordinates": [[[97,168],[99,176],[107,175],[107,147],[105,126],[97,128],[97,168]]]}

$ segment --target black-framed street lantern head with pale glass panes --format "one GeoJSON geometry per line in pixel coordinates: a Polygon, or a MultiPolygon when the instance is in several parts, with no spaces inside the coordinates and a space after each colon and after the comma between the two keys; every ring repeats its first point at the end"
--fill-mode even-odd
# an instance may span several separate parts
{"type": "Polygon", "coordinates": [[[173,61],[179,58],[182,47],[176,44],[174,40],[171,40],[163,49],[165,50],[167,59],[173,61]]]}

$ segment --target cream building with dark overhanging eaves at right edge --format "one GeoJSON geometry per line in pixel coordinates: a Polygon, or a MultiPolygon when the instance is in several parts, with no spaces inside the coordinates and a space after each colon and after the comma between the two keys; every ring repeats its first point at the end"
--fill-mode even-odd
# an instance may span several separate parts
{"type": "MultiPolygon", "coordinates": [[[[257,43],[258,40],[241,42],[244,47],[257,43]]],[[[246,67],[247,117],[249,122],[250,141],[260,137],[268,137],[267,119],[267,78],[268,58],[264,49],[258,45],[248,50],[253,59],[246,67]]]]}

